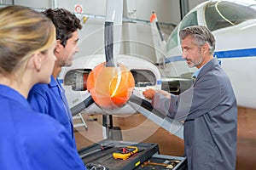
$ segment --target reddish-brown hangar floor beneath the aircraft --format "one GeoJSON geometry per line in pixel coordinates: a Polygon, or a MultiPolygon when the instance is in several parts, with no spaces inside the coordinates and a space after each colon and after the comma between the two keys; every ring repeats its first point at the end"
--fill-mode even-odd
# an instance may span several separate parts
{"type": "MultiPolygon", "coordinates": [[[[76,127],[75,138],[78,150],[102,140],[102,116],[82,114],[88,130],[76,127]],[[96,121],[92,121],[96,118],[96,121]]],[[[158,127],[141,114],[113,116],[113,127],[122,129],[125,141],[157,143],[160,154],[183,156],[183,140],[158,127]]],[[[236,170],[256,170],[256,110],[238,108],[238,138],[236,170]]]]}

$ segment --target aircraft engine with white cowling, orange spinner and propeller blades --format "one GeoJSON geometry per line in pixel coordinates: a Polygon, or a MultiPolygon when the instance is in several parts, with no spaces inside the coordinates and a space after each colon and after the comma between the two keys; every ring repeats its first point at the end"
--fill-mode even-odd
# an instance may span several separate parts
{"type": "MultiPolygon", "coordinates": [[[[139,59],[128,55],[119,54],[119,42],[120,40],[120,29],[119,26],[122,24],[122,20],[119,16],[122,16],[122,1],[119,0],[108,0],[107,1],[107,14],[105,21],[105,54],[96,54],[90,56],[80,57],[73,60],[73,65],[70,67],[62,68],[61,74],[59,75],[60,80],[63,83],[63,88],[66,89],[67,101],[71,108],[73,116],[79,114],[81,111],[86,111],[88,114],[101,114],[103,115],[102,126],[103,126],[103,137],[110,139],[122,139],[119,127],[113,127],[112,115],[130,115],[134,113],[142,113],[147,116],[148,119],[156,122],[161,127],[171,133],[175,133],[177,137],[183,139],[183,124],[176,122],[170,118],[161,115],[158,111],[154,111],[149,101],[143,99],[143,91],[146,88],[161,89],[161,77],[159,69],[149,61],[145,59],[139,59]],[[118,17],[115,17],[118,16],[118,17]],[[114,34],[113,34],[114,32],[114,34]],[[114,40],[116,39],[116,40],[114,40]],[[122,83],[122,72],[119,71],[119,64],[125,65],[126,69],[129,70],[134,79],[134,88],[131,96],[127,97],[127,101],[123,105],[116,105],[115,100],[112,98],[113,94],[120,89],[122,83]],[[90,74],[96,72],[98,65],[108,67],[110,70],[119,71],[118,74],[113,77],[116,80],[115,89],[109,93],[102,93],[102,87],[113,86],[113,80],[106,81],[106,77],[94,77],[96,83],[100,83],[101,89],[97,89],[99,93],[94,94],[91,83],[93,82],[90,74]],[[90,88],[90,91],[88,90],[90,88]],[[114,93],[113,93],[114,92],[114,93]],[[99,102],[100,99],[106,99],[110,105],[105,105],[105,101],[99,102]],[[104,103],[104,105],[102,105],[104,103]],[[154,113],[154,114],[152,114],[154,113]],[[174,125],[174,127],[173,127],[174,125]],[[104,129],[105,128],[105,129],[104,129]]],[[[103,73],[102,73],[103,74],[103,73]]],[[[122,98],[123,96],[121,96],[122,98]]]]}

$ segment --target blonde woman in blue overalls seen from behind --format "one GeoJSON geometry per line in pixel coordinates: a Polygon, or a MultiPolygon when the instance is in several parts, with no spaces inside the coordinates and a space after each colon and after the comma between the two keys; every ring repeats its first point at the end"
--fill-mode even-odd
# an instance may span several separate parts
{"type": "Polygon", "coordinates": [[[43,14],[0,8],[0,169],[85,169],[65,128],[26,100],[35,83],[49,83],[55,42],[43,14]]]}

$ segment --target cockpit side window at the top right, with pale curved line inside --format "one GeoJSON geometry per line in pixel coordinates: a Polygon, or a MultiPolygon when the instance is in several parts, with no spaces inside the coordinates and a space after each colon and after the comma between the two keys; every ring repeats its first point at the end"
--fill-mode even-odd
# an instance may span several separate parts
{"type": "Polygon", "coordinates": [[[256,19],[255,6],[242,3],[218,1],[208,3],[205,8],[207,27],[211,31],[236,26],[243,21],[256,19]]]}

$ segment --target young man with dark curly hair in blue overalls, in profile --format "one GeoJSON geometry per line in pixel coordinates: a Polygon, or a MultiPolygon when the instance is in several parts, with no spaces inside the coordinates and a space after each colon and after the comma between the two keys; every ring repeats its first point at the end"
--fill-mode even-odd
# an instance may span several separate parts
{"type": "Polygon", "coordinates": [[[64,8],[49,8],[43,14],[52,20],[56,28],[56,45],[53,52],[56,57],[55,66],[49,84],[36,84],[30,91],[28,101],[33,110],[52,116],[66,127],[76,148],[72,114],[58,75],[62,66],[72,65],[74,54],[79,52],[78,31],[82,26],[75,14],[64,8]]]}

